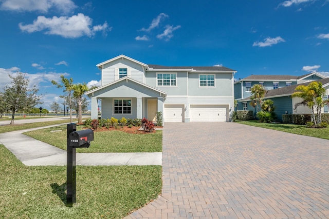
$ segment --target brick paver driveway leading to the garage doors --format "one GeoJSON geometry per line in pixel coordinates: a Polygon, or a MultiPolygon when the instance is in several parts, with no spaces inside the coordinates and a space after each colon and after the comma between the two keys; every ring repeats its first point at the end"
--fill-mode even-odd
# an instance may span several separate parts
{"type": "Polygon", "coordinates": [[[329,218],[329,141],[236,123],[166,123],[163,188],[131,218],[329,218]]]}

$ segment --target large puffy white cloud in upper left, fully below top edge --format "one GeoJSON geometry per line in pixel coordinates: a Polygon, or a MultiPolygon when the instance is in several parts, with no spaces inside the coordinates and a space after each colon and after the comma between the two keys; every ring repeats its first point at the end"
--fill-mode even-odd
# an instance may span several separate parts
{"type": "Polygon", "coordinates": [[[53,16],[51,18],[46,18],[45,16],[38,16],[38,18],[33,21],[33,24],[24,25],[20,23],[19,27],[23,32],[32,33],[47,30],[45,34],[60,35],[66,38],[77,38],[83,35],[92,37],[97,31],[106,32],[107,30],[111,30],[111,28],[108,28],[106,22],[103,25],[94,27],[91,27],[92,23],[92,18],[79,13],[71,17],[53,16]]]}

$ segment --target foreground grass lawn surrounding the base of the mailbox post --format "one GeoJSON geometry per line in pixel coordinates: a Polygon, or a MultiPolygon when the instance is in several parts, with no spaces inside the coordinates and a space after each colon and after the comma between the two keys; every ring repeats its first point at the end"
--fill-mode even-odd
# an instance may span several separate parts
{"type": "Polygon", "coordinates": [[[161,192],[161,166],[76,171],[76,203],[69,208],[65,166],[25,166],[0,145],[0,218],[122,218],[161,192]]]}

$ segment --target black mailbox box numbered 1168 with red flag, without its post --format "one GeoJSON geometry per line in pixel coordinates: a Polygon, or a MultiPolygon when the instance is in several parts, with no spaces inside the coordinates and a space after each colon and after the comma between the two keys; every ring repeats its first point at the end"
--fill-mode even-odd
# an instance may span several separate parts
{"type": "Polygon", "coordinates": [[[88,148],[90,142],[94,141],[94,131],[92,129],[85,129],[71,132],[68,141],[69,146],[74,148],[88,148]]]}

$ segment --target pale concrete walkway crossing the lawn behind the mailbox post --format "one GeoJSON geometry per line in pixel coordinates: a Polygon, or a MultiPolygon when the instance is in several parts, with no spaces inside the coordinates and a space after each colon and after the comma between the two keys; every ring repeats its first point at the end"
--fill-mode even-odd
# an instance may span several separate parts
{"type": "MultiPolygon", "coordinates": [[[[0,143],[27,166],[65,166],[65,150],[22,134],[54,126],[2,133],[0,143]]],[[[162,165],[162,153],[77,153],[77,165],[162,165]]]]}

